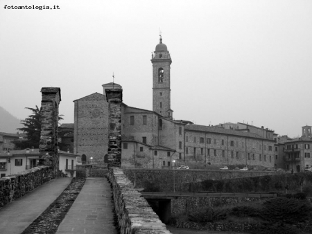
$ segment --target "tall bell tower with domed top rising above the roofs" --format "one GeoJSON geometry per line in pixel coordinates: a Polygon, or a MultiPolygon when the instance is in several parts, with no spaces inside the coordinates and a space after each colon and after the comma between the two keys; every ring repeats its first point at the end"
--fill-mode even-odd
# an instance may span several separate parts
{"type": "Polygon", "coordinates": [[[167,46],[162,43],[161,35],[150,61],[153,64],[153,111],[166,118],[172,118],[173,110],[170,105],[170,64],[172,61],[167,46]]]}

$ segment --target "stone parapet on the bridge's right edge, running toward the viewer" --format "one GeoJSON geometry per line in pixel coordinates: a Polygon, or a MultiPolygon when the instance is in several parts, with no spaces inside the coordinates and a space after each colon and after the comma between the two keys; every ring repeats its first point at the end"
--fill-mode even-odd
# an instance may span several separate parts
{"type": "Polygon", "coordinates": [[[112,183],[114,207],[122,234],[171,233],[121,168],[110,168],[108,177],[112,183]]]}

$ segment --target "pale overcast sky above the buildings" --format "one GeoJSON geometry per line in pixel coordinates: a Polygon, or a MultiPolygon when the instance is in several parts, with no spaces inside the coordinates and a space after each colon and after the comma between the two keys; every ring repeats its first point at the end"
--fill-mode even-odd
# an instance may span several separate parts
{"type": "Polygon", "coordinates": [[[103,93],[114,72],[125,104],[153,109],[159,28],[174,118],[291,137],[312,125],[311,0],[0,0],[0,106],[24,119],[42,87],[60,87],[61,123],[73,123],[73,100],[103,93]]]}

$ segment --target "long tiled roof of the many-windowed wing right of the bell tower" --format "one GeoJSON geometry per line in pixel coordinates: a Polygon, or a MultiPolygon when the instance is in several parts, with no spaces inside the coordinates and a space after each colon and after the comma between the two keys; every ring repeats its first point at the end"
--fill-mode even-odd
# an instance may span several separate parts
{"type": "Polygon", "coordinates": [[[268,141],[273,141],[272,139],[267,139],[259,136],[258,134],[253,134],[250,132],[240,132],[232,129],[224,129],[223,127],[208,127],[205,125],[185,125],[185,129],[190,131],[198,131],[198,132],[212,132],[218,134],[229,134],[234,136],[245,136],[251,138],[261,138],[268,141]]]}

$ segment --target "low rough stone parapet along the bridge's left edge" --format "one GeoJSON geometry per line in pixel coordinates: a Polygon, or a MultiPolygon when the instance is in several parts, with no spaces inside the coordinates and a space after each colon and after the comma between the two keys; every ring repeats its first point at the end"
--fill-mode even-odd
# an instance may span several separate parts
{"type": "Polygon", "coordinates": [[[52,168],[40,166],[21,174],[13,174],[10,177],[0,179],[0,207],[11,201],[23,197],[37,186],[53,178],[52,168]]]}

